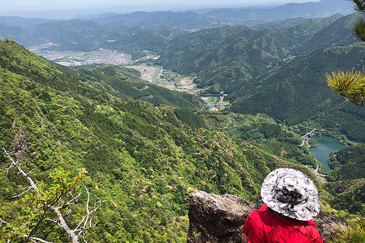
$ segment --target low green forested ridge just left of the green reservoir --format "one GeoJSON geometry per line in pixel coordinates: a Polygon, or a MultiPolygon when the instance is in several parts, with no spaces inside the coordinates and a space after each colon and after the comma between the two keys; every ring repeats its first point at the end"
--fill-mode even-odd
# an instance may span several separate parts
{"type": "MultiPolygon", "coordinates": [[[[225,112],[209,112],[192,108],[175,109],[176,116],[192,126],[214,128],[237,141],[251,144],[287,161],[316,168],[318,161],[302,143],[295,128],[284,128],[266,114],[245,115],[225,112]]],[[[320,164],[319,164],[320,165],[320,164]]],[[[323,166],[320,165],[320,170],[323,166]]]]}

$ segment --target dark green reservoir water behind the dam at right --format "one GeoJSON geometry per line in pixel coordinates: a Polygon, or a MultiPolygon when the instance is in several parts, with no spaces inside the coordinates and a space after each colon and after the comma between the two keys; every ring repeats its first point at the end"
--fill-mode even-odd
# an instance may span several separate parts
{"type": "Polygon", "coordinates": [[[324,171],[331,171],[331,168],[327,163],[330,152],[340,150],[344,148],[345,145],[342,145],[336,138],[327,136],[313,136],[312,138],[315,139],[319,145],[316,147],[310,147],[309,152],[311,152],[319,163],[324,166],[324,171]]]}

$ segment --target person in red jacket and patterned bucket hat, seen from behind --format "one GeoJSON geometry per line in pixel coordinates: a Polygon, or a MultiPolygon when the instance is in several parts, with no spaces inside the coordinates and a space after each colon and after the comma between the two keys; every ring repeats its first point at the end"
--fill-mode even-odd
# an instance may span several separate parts
{"type": "Polygon", "coordinates": [[[277,169],[261,187],[264,206],[247,216],[248,243],[323,243],[313,218],[319,213],[318,192],[309,177],[277,169]]]}

